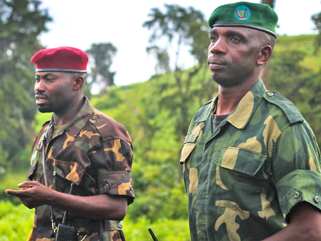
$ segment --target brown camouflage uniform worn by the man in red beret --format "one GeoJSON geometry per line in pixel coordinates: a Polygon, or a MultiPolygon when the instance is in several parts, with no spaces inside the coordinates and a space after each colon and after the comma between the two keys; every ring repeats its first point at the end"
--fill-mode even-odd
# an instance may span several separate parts
{"type": "MultiPolygon", "coordinates": [[[[135,196],[129,174],[133,161],[131,139],[124,126],[94,109],[88,99],[74,120],[51,139],[53,118],[40,130],[32,147],[29,179],[45,185],[40,143],[48,129],[46,146],[46,175],[48,187],[69,193],[75,183],[74,195],[124,195],[128,204],[135,196]]],[[[64,210],[52,207],[56,225],[62,221],[64,210]]],[[[89,219],[68,213],[68,220],[84,231],[89,219]]],[[[100,220],[85,240],[121,240],[121,223],[100,220]]],[[[50,206],[35,209],[32,240],[54,240],[50,206]]]]}

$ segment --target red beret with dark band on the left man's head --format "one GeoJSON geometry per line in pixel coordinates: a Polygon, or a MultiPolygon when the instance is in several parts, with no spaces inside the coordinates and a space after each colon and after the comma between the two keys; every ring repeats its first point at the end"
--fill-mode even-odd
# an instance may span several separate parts
{"type": "Polygon", "coordinates": [[[73,47],[41,49],[30,60],[36,72],[87,73],[88,55],[73,47]]]}

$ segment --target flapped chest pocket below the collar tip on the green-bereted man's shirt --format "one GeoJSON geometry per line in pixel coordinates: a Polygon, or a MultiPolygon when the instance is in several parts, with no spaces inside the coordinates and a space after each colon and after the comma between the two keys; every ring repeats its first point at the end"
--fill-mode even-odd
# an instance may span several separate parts
{"type": "Polygon", "coordinates": [[[262,211],[265,159],[265,155],[251,150],[224,146],[212,161],[216,165],[215,205],[262,211]]]}

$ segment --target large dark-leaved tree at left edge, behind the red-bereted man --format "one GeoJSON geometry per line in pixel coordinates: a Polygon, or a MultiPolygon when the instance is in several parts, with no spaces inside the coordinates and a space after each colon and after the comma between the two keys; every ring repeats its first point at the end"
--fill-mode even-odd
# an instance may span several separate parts
{"type": "Polygon", "coordinates": [[[36,0],[0,0],[0,172],[22,163],[21,150],[32,139],[36,105],[31,56],[43,47],[37,36],[51,21],[36,0]]]}

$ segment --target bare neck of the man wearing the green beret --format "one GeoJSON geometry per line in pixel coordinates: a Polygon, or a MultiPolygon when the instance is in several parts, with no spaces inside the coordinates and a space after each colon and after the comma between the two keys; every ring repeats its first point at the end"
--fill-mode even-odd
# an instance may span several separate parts
{"type": "Polygon", "coordinates": [[[243,85],[228,87],[219,85],[216,114],[230,114],[256,81],[251,84],[247,82],[243,85]]]}

